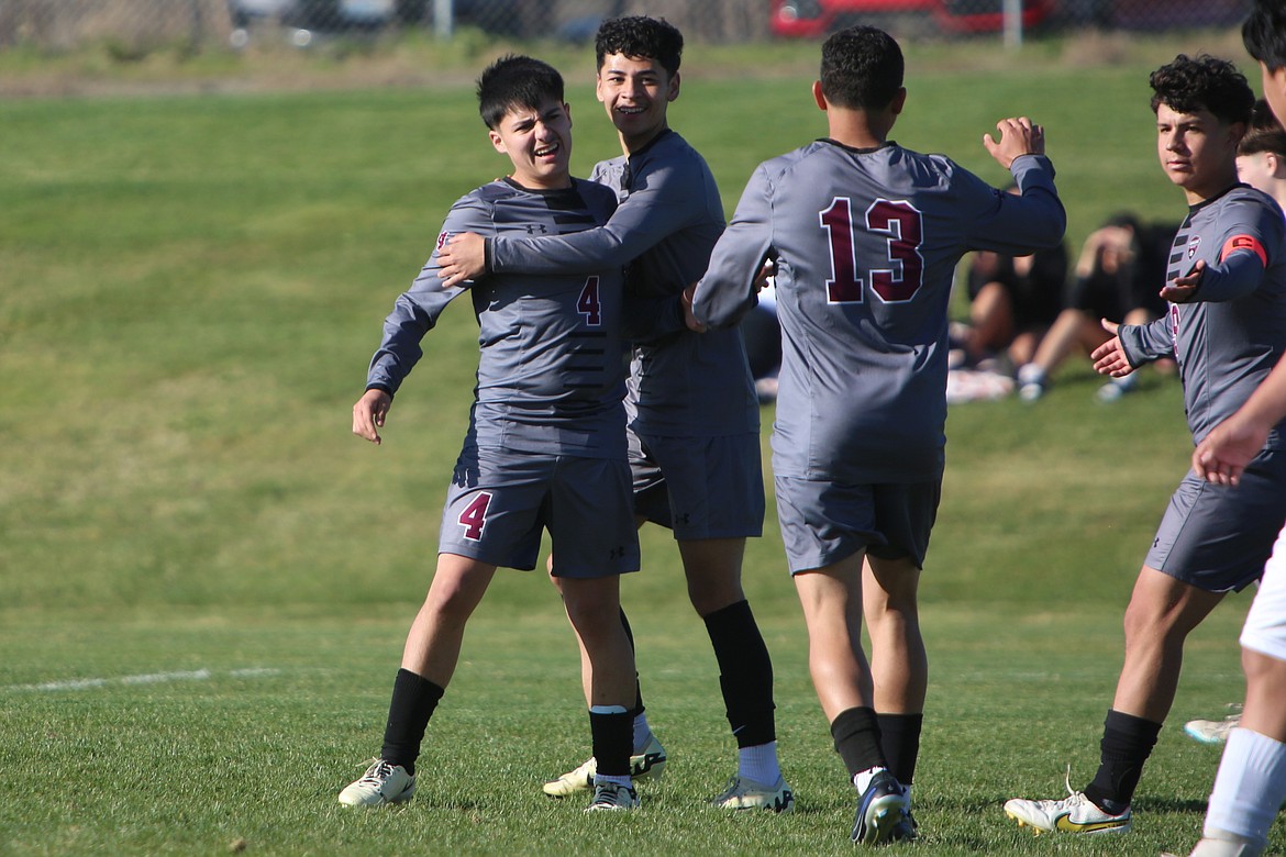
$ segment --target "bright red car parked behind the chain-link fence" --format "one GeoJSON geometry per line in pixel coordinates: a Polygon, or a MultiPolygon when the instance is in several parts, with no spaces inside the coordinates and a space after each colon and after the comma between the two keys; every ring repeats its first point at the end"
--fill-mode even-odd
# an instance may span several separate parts
{"type": "MultiPolygon", "coordinates": [[[[1052,12],[1053,0],[1021,0],[1022,27],[1034,27],[1052,12]]],[[[999,32],[1004,0],[773,0],[769,26],[778,36],[815,39],[872,15],[932,15],[946,32],[999,32]]]]}

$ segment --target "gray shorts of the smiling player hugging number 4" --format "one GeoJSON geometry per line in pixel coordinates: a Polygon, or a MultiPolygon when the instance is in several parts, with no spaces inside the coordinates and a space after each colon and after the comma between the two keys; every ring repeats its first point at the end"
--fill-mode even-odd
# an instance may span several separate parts
{"type": "Polygon", "coordinates": [[[629,430],[634,514],[679,541],[764,535],[759,433],[640,437],[629,430]]]}

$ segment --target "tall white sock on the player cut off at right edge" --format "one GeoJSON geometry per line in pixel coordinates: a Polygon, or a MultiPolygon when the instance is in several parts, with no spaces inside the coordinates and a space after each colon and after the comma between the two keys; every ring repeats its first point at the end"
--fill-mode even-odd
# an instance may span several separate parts
{"type": "Polygon", "coordinates": [[[1286,744],[1249,729],[1228,734],[1210,793],[1205,835],[1226,830],[1267,844],[1268,829],[1286,800],[1286,744]]]}

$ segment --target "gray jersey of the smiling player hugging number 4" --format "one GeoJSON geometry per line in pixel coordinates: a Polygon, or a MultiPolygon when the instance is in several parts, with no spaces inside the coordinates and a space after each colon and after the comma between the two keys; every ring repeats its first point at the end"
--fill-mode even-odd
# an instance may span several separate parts
{"type": "MultiPolygon", "coordinates": [[[[498,235],[489,270],[597,271],[629,265],[631,293],[676,296],[706,270],[724,229],[719,189],[705,159],[664,131],[628,159],[599,163],[595,181],[621,204],[603,229],[556,239],[498,235]]],[[[635,343],[626,407],[640,434],[716,437],[759,430],[759,402],[737,330],[705,335],[682,328],[635,343]]]]}

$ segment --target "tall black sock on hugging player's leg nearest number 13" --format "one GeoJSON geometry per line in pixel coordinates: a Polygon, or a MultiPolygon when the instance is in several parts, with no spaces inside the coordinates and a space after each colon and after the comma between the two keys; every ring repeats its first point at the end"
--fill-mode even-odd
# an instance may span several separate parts
{"type": "Polygon", "coordinates": [[[737,601],[705,617],[719,662],[728,725],[737,747],[777,740],[773,716],[773,662],[748,601],[737,601]]]}

